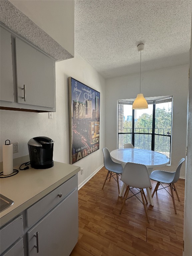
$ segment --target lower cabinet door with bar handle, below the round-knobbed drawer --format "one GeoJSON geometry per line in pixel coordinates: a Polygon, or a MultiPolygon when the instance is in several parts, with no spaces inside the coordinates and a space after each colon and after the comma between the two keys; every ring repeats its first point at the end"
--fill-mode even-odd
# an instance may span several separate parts
{"type": "Polygon", "coordinates": [[[29,256],[69,256],[78,239],[77,189],[30,229],[27,239],[29,256]]]}

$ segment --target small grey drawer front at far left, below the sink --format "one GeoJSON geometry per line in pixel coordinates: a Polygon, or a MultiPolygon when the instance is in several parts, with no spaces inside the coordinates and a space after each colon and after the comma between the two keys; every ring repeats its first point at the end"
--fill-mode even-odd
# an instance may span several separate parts
{"type": "Polygon", "coordinates": [[[23,215],[19,215],[0,229],[0,254],[23,235],[23,215]]]}

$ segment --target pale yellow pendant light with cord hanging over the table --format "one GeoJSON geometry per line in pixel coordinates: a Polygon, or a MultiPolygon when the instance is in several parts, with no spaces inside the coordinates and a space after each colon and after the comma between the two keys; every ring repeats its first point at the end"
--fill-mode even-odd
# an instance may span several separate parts
{"type": "MultiPolygon", "coordinates": [[[[144,44],[138,44],[137,45],[138,52],[141,52],[144,50],[144,44]]],[[[148,104],[146,99],[143,97],[143,94],[141,93],[141,57],[140,57],[140,93],[137,94],[137,98],[133,102],[132,109],[146,109],[148,108],[148,104]]]]}

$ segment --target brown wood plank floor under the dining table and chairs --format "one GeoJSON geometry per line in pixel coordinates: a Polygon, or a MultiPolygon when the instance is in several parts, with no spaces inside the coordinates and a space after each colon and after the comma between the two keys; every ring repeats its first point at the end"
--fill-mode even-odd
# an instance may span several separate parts
{"type": "MultiPolygon", "coordinates": [[[[135,196],[119,214],[123,198],[118,197],[113,178],[102,190],[106,174],[103,167],[78,192],[79,239],[70,256],[182,256],[185,181],[176,183],[181,200],[174,192],[177,214],[164,189],[155,193],[154,206],[147,204],[149,224],[143,204],[135,196]]],[[[152,181],[153,189],[155,184],[152,181]]]]}

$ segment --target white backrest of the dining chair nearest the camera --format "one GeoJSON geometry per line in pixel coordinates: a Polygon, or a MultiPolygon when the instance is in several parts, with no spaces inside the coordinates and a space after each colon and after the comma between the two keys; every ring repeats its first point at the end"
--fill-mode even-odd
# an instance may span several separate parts
{"type": "Polygon", "coordinates": [[[144,164],[126,163],[121,180],[128,186],[134,188],[151,187],[149,173],[144,164]]]}

